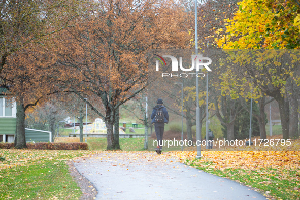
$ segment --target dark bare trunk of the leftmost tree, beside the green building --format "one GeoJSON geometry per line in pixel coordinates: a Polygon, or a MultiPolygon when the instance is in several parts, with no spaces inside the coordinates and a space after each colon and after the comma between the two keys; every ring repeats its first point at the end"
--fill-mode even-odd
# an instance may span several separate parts
{"type": "Polygon", "coordinates": [[[25,139],[25,108],[23,97],[19,97],[19,100],[17,101],[17,126],[15,148],[27,148],[25,139]]]}

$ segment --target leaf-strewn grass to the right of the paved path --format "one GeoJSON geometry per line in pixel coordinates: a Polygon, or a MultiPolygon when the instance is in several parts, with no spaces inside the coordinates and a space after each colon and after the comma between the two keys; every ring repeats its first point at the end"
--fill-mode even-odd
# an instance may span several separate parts
{"type": "Polygon", "coordinates": [[[177,153],[181,162],[229,178],[269,198],[300,199],[300,152],[177,153]]]}

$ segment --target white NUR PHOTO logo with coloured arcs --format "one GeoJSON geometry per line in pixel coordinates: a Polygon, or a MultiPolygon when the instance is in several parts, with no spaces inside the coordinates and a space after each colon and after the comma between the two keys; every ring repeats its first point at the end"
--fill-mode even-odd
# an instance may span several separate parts
{"type": "MultiPolygon", "coordinates": [[[[156,60],[156,71],[159,71],[159,63],[161,63],[162,67],[166,67],[166,61],[164,58],[170,58],[171,59],[171,65],[172,65],[172,72],[178,72],[178,60],[175,56],[172,55],[163,55],[159,56],[157,54],[154,54],[157,58],[156,60]]],[[[212,60],[208,57],[202,57],[202,55],[191,55],[191,67],[190,68],[184,68],[182,65],[182,57],[179,57],[179,68],[183,72],[191,72],[193,70],[196,70],[196,72],[199,72],[199,69],[203,69],[203,66],[206,68],[207,71],[211,72],[212,70],[208,67],[209,64],[212,63],[212,60]],[[208,60],[208,62],[204,62],[204,60],[208,60]]],[[[205,77],[205,74],[203,73],[180,73],[180,74],[172,74],[172,73],[162,73],[162,77],[193,77],[196,75],[197,77],[205,77]]]]}

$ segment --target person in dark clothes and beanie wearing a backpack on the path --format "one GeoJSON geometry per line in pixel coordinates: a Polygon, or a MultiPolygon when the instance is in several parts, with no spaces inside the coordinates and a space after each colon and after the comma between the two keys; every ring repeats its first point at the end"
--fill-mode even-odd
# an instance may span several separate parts
{"type": "Polygon", "coordinates": [[[161,151],[162,149],[162,137],[164,131],[164,123],[169,122],[169,114],[164,106],[162,106],[163,101],[161,98],[158,98],[156,101],[156,106],[153,107],[151,114],[151,123],[154,123],[154,130],[158,142],[156,151],[161,151]]]}

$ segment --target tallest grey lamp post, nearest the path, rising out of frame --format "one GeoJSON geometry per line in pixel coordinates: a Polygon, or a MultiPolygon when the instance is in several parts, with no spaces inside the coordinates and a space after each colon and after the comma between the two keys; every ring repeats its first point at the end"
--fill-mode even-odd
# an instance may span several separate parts
{"type": "MultiPolygon", "coordinates": [[[[195,53],[198,55],[198,24],[197,24],[197,0],[195,0],[195,53]]],[[[196,69],[196,74],[198,73],[196,69]]],[[[196,158],[201,158],[201,144],[198,144],[198,141],[201,140],[201,130],[200,130],[200,107],[199,107],[199,77],[196,75],[196,145],[197,145],[197,155],[196,158]]]]}

